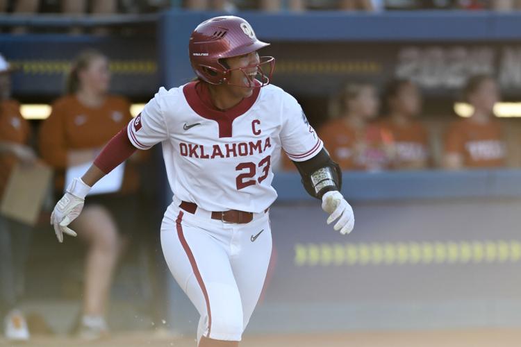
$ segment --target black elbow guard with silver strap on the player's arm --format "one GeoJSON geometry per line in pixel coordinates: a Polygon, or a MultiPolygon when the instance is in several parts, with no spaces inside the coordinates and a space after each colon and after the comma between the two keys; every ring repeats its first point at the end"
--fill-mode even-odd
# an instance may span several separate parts
{"type": "Polygon", "coordinates": [[[314,198],[320,199],[326,192],[342,188],[342,171],[325,149],[311,159],[293,163],[299,170],[306,192],[314,198]]]}

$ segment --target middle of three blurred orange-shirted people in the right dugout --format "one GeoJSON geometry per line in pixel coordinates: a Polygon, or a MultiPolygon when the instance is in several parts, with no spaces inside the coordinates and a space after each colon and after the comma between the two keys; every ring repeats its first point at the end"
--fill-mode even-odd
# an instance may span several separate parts
{"type": "Polygon", "coordinates": [[[422,108],[418,87],[407,80],[391,81],[383,96],[386,118],[381,126],[392,134],[395,155],[392,169],[424,169],[429,164],[429,135],[415,120],[422,108]]]}

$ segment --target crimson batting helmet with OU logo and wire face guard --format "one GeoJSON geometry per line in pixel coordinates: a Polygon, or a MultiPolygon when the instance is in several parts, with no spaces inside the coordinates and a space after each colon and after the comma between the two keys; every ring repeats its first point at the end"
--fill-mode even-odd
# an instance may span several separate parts
{"type": "Polygon", "coordinates": [[[274,69],[273,57],[261,57],[257,65],[230,69],[222,59],[252,53],[269,43],[258,40],[254,29],[245,19],[235,16],[210,18],[195,28],[190,35],[188,51],[190,63],[197,77],[213,85],[229,83],[231,71],[240,70],[247,77],[248,85],[240,87],[263,87],[270,83],[274,69]],[[265,74],[263,68],[270,69],[265,74]],[[246,69],[256,68],[261,81],[246,73],[246,69]]]}

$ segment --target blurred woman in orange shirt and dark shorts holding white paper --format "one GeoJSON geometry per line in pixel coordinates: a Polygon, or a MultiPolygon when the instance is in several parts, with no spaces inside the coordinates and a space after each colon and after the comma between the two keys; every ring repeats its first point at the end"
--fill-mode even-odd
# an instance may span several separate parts
{"type": "MultiPolygon", "coordinates": [[[[64,171],[92,162],[116,133],[131,119],[126,99],[108,94],[108,59],[97,51],[84,51],[72,65],[67,95],[53,103],[40,128],[40,152],[57,171],[56,189],[61,194],[64,171]]],[[[138,176],[128,163],[119,192],[92,196],[81,217],[74,221],[88,244],[85,260],[83,316],[80,337],[96,339],[108,333],[104,319],[110,284],[127,234],[135,228],[138,176]]]]}

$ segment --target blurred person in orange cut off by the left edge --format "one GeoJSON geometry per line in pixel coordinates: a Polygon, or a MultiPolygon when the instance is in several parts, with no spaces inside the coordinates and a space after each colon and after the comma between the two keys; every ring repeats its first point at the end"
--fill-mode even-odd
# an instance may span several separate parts
{"type": "MultiPolygon", "coordinates": [[[[17,163],[33,164],[36,155],[29,147],[30,127],[19,112],[19,103],[10,99],[10,67],[0,55],[0,200],[10,173],[17,163]]],[[[24,287],[31,228],[0,215],[0,317],[9,341],[29,339],[29,331],[18,300],[24,287]]]]}

